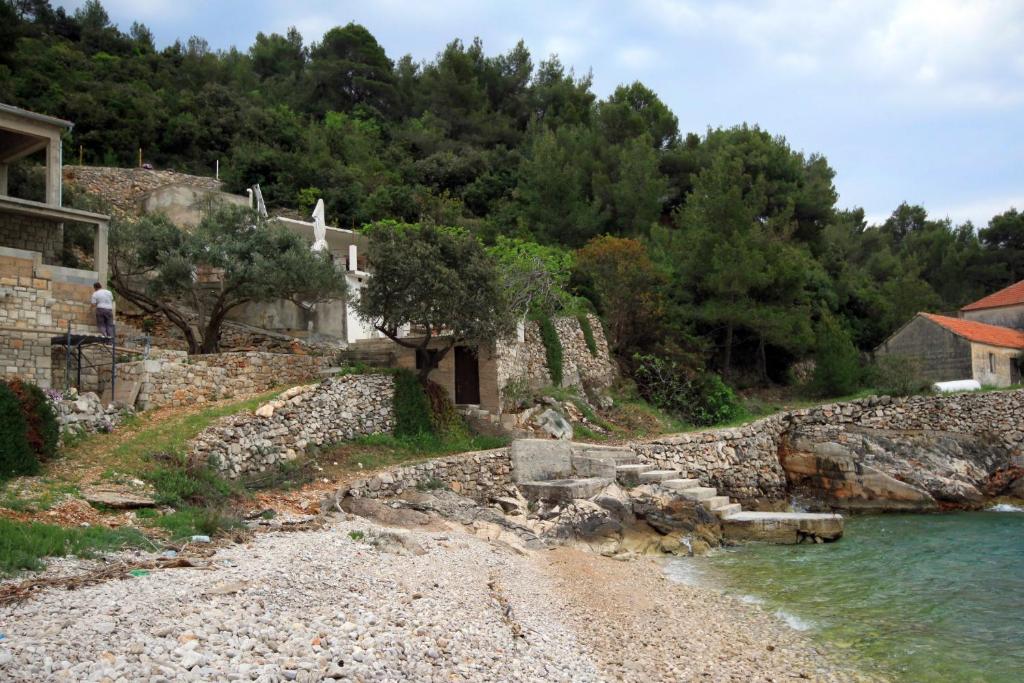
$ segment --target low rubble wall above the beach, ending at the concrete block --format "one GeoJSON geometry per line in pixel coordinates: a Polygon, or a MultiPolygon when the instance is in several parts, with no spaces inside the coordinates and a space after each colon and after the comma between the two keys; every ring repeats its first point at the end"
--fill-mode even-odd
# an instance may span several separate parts
{"type": "Polygon", "coordinates": [[[396,467],[348,484],[348,495],[389,498],[416,487],[444,487],[486,502],[512,483],[509,449],[462,453],[418,465],[396,467]]]}

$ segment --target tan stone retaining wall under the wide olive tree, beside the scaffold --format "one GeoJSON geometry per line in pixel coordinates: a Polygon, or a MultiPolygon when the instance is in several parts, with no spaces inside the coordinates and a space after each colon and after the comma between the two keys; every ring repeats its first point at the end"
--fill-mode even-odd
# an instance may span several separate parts
{"type": "Polygon", "coordinates": [[[138,382],[141,410],[190,405],[266,391],[316,378],[330,365],[318,355],[244,351],[187,355],[164,351],[160,357],[118,366],[119,382],[138,382]]]}

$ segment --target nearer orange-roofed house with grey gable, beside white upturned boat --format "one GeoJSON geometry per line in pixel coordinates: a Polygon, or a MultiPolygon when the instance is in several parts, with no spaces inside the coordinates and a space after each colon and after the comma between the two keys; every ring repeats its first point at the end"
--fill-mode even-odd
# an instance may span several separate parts
{"type": "Polygon", "coordinates": [[[982,385],[1021,382],[1024,332],[962,317],[918,313],[876,349],[916,358],[931,382],[974,379],[982,385]]]}

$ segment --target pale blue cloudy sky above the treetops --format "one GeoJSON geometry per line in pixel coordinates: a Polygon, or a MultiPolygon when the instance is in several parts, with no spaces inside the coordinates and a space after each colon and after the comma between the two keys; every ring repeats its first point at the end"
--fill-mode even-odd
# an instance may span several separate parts
{"type": "MultiPolygon", "coordinates": [[[[55,2],[74,9],[82,1],[55,2]]],[[[248,49],[296,27],[315,42],[365,26],[397,59],[455,38],[487,54],[522,39],[594,91],[641,81],[683,133],[758,124],[836,170],[843,208],[872,222],[901,202],[984,226],[1024,210],[1024,0],[103,0],[158,47],[198,35],[248,49]]]]}

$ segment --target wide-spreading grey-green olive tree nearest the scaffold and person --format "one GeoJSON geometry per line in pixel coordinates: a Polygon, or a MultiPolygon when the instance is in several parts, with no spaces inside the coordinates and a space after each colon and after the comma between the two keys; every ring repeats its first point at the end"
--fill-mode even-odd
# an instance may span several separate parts
{"type": "Polygon", "coordinates": [[[120,296],[181,330],[189,353],[218,351],[220,327],[242,304],[289,299],[308,307],[345,295],[327,252],[237,207],[214,208],[191,231],[162,216],[115,223],[111,276],[120,296]]]}

